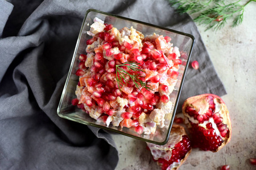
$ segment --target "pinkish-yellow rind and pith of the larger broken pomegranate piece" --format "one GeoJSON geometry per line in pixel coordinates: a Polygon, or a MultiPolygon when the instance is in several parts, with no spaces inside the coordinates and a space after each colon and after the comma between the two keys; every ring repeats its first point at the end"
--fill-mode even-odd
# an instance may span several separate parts
{"type": "MultiPolygon", "coordinates": [[[[184,101],[183,105],[182,105],[182,112],[184,117],[188,117],[188,113],[185,112],[185,108],[187,106],[191,106],[191,105],[196,105],[196,110],[199,108],[204,108],[204,102],[202,102],[203,100],[205,100],[205,97],[207,96],[213,96],[214,97],[214,103],[218,103],[221,105],[221,110],[218,112],[221,114],[221,117],[223,118],[223,124],[227,125],[228,133],[226,134],[225,138],[222,137],[222,139],[224,140],[224,142],[222,142],[221,146],[219,146],[216,150],[212,151],[212,152],[217,152],[219,150],[221,150],[221,148],[223,148],[226,144],[229,143],[230,139],[231,139],[231,135],[232,135],[232,127],[231,127],[231,121],[230,121],[230,117],[229,117],[229,111],[228,108],[226,107],[225,102],[221,99],[221,97],[217,96],[217,95],[213,95],[213,94],[203,94],[203,95],[197,95],[197,96],[192,96],[189,97],[187,100],[184,101]]],[[[187,125],[188,129],[191,130],[192,126],[188,121],[184,121],[185,125],[187,125]]]]}

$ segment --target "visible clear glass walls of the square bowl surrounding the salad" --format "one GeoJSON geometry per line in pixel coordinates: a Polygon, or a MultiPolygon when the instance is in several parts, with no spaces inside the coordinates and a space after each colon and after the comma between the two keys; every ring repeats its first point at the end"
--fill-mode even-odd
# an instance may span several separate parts
{"type": "Polygon", "coordinates": [[[96,126],[97,128],[114,131],[116,133],[140,139],[145,142],[155,143],[156,145],[164,145],[165,143],[167,143],[170,135],[172,122],[174,121],[177,103],[179,101],[181,88],[183,86],[185,73],[187,71],[189,58],[191,56],[194,43],[195,38],[187,33],[139,22],[137,20],[124,18],[122,16],[108,14],[106,12],[101,12],[93,9],[88,10],[86,12],[84,21],[82,22],[75,52],[73,54],[71,66],[68,72],[68,77],[65,82],[63,93],[61,95],[59,107],[57,108],[57,114],[60,117],[66,118],[71,121],[76,121],[81,124],[96,126]],[[92,38],[92,36],[86,34],[86,31],[90,30],[90,25],[93,24],[93,19],[95,17],[103,20],[104,23],[113,24],[114,27],[117,29],[121,29],[123,27],[130,28],[131,26],[133,26],[133,28],[137,29],[137,31],[142,32],[143,35],[152,35],[153,33],[156,33],[158,35],[169,36],[171,37],[171,42],[174,44],[174,46],[177,46],[180,52],[183,52],[184,55],[180,57],[183,63],[180,65],[179,76],[177,77],[178,81],[174,88],[174,91],[170,95],[170,100],[172,102],[172,111],[171,114],[169,114],[170,116],[166,117],[168,120],[166,122],[166,127],[168,128],[156,128],[156,132],[154,135],[146,135],[143,133],[137,134],[135,131],[130,130],[129,128],[111,126],[111,124],[109,127],[107,127],[105,124],[97,122],[96,120],[91,118],[89,114],[86,114],[81,109],[72,105],[71,101],[72,99],[76,98],[75,91],[77,83],[79,82],[79,76],[76,76],[75,74],[80,62],[79,56],[80,54],[86,54],[86,40],[92,38]]]}

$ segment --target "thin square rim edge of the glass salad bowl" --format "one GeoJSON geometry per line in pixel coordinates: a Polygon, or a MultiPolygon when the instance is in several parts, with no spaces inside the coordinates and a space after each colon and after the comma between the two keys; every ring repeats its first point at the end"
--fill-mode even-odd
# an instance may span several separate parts
{"type": "MultiPolygon", "coordinates": [[[[67,75],[67,79],[65,81],[65,84],[64,84],[64,87],[63,87],[63,92],[61,94],[61,97],[60,97],[60,102],[59,102],[59,105],[57,107],[57,114],[59,117],[61,118],[65,118],[65,119],[68,119],[68,120],[71,120],[71,121],[76,121],[76,122],[79,122],[81,124],[85,124],[85,125],[90,125],[90,126],[94,126],[96,128],[101,128],[101,129],[105,129],[105,130],[108,130],[108,131],[114,131],[115,133],[119,133],[119,134],[122,134],[122,135],[126,135],[128,137],[131,137],[131,138],[135,138],[135,139],[139,139],[141,141],[144,141],[144,142],[149,142],[149,143],[154,143],[156,145],[165,145],[167,142],[168,142],[168,139],[170,137],[170,133],[171,133],[171,128],[172,128],[172,124],[174,122],[174,117],[175,117],[175,114],[176,114],[176,109],[177,109],[177,104],[179,102],[179,98],[180,98],[180,94],[181,94],[181,90],[183,88],[183,84],[184,84],[184,80],[185,80],[185,75],[187,74],[187,69],[188,69],[188,65],[189,65],[189,60],[191,58],[191,54],[192,54],[192,50],[193,50],[193,46],[195,45],[195,37],[189,33],[184,33],[184,32],[180,32],[180,31],[176,31],[174,29],[170,29],[170,28],[166,28],[166,27],[161,27],[159,25],[154,25],[154,24],[150,24],[150,23],[146,23],[146,22],[141,22],[139,20],[135,20],[135,19],[130,19],[130,18],[126,18],[124,16],[119,16],[119,15],[115,15],[115,14],[111,14],[111,13],[108,13],[108,12],[104,12],[104,11],[99,11],[99,10],[95,10],[93,8],[90,8],[86,11],[86,14],[85,14],[85,17],[84,17],[84,20],[82,21],[82,24],[81,24],[81,28],[80,28],[80,32],[79,32],[79,36],[77,38],[77,42],[76,42],[76,46],[75,46],[75,51],[73,53],[73,57],[72,57],[72,61],[71,61],[71,66],[69,67],[69,71],[68,71],[68,75],[67,75]],[[71,72],[72,72],[72,69],[73,69],[73,65],[74,65],[74,62],[75,62],[75,58],[76,58],[76,54],[77,54],[77,49],[79,47],[79,44],[80,44],[80,40],[81,40],[81,36],[82,36],[82,31],[83,31],[83,28],[84,28],[84,24],[85,24],[85,21],[86,21],[86,18],[89,14],[89,12],[97,12],[97,13],[100,13],[100,14],[104,14],[104,15],[108,15],[108,16],[114,16],[115,18],[119,18],[119,19],[123,19],[123,20],[129,20],[131,22],[135,22],[135,23],[139,23],[139,24],[143,24],[143,25],[148,25],[150,27],[155,27],[155,28],[159,28],[159,29],[164,29],[166,31],[170,31],[170,32],[174,32],[174,33],[177,33],[179,35],[183,35],[183,36],[187,36],[187,37],[190,37],[192,39],[192,44],[191,44],[191,48],[189,50],[189,53],[188,53],[188,59],[187,59],[187,63],[184,67],[184,71],[183,71],[183,77],[181,78],[181,83],[180,83],[180,86],[179,86],[179,90],[177,91],[177,97],[176,97],[176,101],[175,101],[175,104],[174,104],[174,109],[173,109],[173,116],[171,117],[171,120],[170,120],[170,125],[167,129],[167,135],[164,139],[163,142],[156,142],[156,141],[152,141],[150,139],[146,139],[146,138],[143,138],[143,137],[138,137],[136,135],[133,135],[133,134],[129,134],[129,133],[125,133],[123,131],[119,131],[119,130],[116,130],[116,129],[112,129],[112,128],[108,128],[106,126],[101,126],[101,125],[97,125],[97,124],[94,124],[94,123],[91,123],[91,122],[84,122],[84,121],[78,121],[76,119],[73,119],[71,117],[68,117],[68,116],[65,116],[64,114],[61,114],[60,113],[60,108],[61,108],[61,105],[63,103],[63,99],[64,99],[64,95],[65,95],[65,91],[67,89],[67,86],[68,86],[68,82],[69,82],[69,79],[70,79],[70,76],[71,76],[71,72]]],[[[70,113],[72,114],[72,113],[70,113]]]]}

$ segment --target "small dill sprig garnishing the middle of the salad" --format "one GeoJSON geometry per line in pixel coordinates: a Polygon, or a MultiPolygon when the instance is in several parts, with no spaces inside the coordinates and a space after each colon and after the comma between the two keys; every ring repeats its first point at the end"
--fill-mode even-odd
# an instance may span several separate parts
{"type": "MultiPolygon", "coordinates": [[[[135,86],[141,90],[142,88],[146,88],[146,90],[153,90],[152,86],[150,86],[147,82],[143,82],[139,77],[142,77],[141,74],[138,73],[138,71],[142,71],[146,73],[145,71],[140,69],[139,63],[136,61],[127,61],[121,65],[115,65],[115,70],[117,74],[117,84],[118,88],[121,91],[121,86],[127,83],[129,81],[127,80],[126,76],[130,76],[131,80],[133,80],[135,86]],[[132,71],[132,73],[128,73],[126,70],[124,70],[122,67],[127,67],[129,71],[132,71]]],[[[130,83],[129,83],[130,84],[130,83]]]]}

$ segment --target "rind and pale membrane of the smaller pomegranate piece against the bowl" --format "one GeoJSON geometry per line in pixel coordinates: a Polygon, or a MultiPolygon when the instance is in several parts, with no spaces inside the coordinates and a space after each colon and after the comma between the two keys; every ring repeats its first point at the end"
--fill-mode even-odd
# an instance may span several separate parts
{"type": "MultiPolygon", "coordinates": [[[[170,133],[170,138],[169,138],[169,140],[171,140],[174,136],[177,136],[177,135],[179,135],[179,138],[178,138],[178,140],[176,140],[177,137],[175,137],[175,138],[176,138],[176,139],[174,139],[175,143],[173,143],[171,147],[167,147],[167,145],[170,145],[170,143],[168,143],[168,142],[167,142],[166,145],[163,145],[163,146],[154,145],[154,144],[152,144],[152,143],[147,143],[147,145],[148,145],[148,147],[150,148],[150,150],[151,150],[151,147],[152,147],[152,146],[155,146],[155,148],[158,148],[158,149],[160,149],[160,150],[164,150],[164,149],[165,149],[166,151],[170,151],[170,149],[173,148],[173,147],[176,145],[176,143],[179,143],[180,141],[182,141],[182,136],[183,136],[183,135],[187,135],[187,133],[185,132],[185,129],[183,128],[183,126],[180,126],[180,125],[172,125],[172,129],[171,129],[171,133],[170,133]]],[[[192,148],[191,148],[191,150],[189,150],[189,151],[187,152],[187,154],[185,154],[185,157],[180,160],[178,167],[171,168],[171,170],[179,169],[179,167],[185,162],[185,160],[187,160],[189,154],[191,154],[191,151],[192,151],[192,148]]],[[[152,154],[152,152],[151,152],[151,154],[152,154]]],[[[153,155],[153,154],[152,154],[152,155],[153,155]]],[[[154,155],[153,155],[153,157],[154,157],[154,155]]],[[[163,156],[162,156],[162,157],[159,157],[159,158],[163,158],[163,159],[164,159],[163,156]]],[[[158,159],[159,159],[159,158],[158,158],[158,159]]],[[[160,167],[162,167],[162,164],[159,163],[158,161],[157,161],[157,164],[158,164],[160,167]]],[[[170,168],[167,168],[167,169],[170,169],[170,168]]]]}

